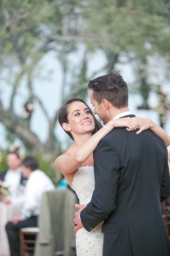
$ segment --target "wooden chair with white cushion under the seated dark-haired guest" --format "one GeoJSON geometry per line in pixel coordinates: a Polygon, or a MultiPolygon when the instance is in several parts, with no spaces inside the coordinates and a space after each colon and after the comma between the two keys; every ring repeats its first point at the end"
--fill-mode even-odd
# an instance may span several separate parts
{"type": "Polygon", "coordinates": [[[36,235],[39,232],[39,228],[23,228],[19,231],[20,237],[20,256],[24,256],[25,252],[34,252],[36,235]],[[31,235],[33,238],[27,239],[25,236],[31,235]]]}

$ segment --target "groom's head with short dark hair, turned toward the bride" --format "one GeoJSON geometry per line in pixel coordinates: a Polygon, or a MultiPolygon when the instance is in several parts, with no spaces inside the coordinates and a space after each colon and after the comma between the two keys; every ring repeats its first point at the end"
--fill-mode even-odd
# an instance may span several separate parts
{"type": "Polygon", "coordinates": [[[128,88],[120,74],[97,77],[88,87],[94,114],[98,114],[103,123],[128,110],[128,88]]]}

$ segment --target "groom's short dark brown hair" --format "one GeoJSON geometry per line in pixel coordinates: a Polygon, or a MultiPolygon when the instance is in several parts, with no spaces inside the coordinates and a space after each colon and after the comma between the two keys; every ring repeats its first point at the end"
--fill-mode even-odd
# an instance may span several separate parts
{"type": "Polygon", "coordinates": [[[91,80],[88,87],[93,90],[93,98],[98,104],[105,99],[117,109],[128,106],[128,88],[120,74],[99,76],[91,80]]]}

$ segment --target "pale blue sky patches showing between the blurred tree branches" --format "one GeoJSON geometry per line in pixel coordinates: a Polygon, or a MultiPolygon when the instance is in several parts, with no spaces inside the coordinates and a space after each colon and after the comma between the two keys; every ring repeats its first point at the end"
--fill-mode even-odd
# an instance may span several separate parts
{"type": "MultiPolygon", "coordinates": [[[[77,52],[76,55],[70,55],[69,62],[78,65],[78,60],[81,60],[82,53],[83,49],[81,48],[81,50],[77,52]]],[[[104,54],[101,51],[97,51],[95,52],[95,54],[91,54],[88,57],[88,77],[91,77],[96,68],[100,70],[100,68],[104,66],[106,60],[104,54]]],[[[152,61],[151,66],[153,67],[152,61]]],[[[127,85],[131,85],[135,82],[135,77],[132,72],[132,66],[130,64],[119,64],[116,66],[116,68],[120,71],[127,85]]],[[[60,106],[60,92],[62,82],[61,67],[54,53],[48,53],[48,55],[46,55],[42,59],[42,61],[39,63],[39,67],[36,73],[38,73],[39,76],[38,78],[34,79],[35,94],[37,94],[40,97],[45,108],[47,109],[50,118],[52,118],[52,116],[54,116],[54,113],[60,106]]],[[[152,73],[154,74],[154,72],[152,73]]],[[[170,84],[167,81],[165,81],[164,70],[162,69],[162,71],[158,73],[159,75],[153,75],[153,77],[151,76],[151,80],[153,83],[163,84],[163,88],[165,92],[168,93],[170,98],[170,84]]],[[[104,75],[104,73],[101,72],[97,74],[97,76],[100,75],[104,75]]],[[[7,107],[9,104],[9,97],[11,94],[11,87],[7,83],[1,83],[0,90],[3,104],[5,107],[7,107]]],[[[22,115],[23,105],[26,101],[27,95],[28,91],[25,85],[25,80],[23,79],[23,82],[19,87],[19,90],[17,91],[17,96],[14,104],[15,111],[18,115],[22,115]]],[[[90,105],[88,96],[87,103],[90,105]]],[[[129,109],[132,113],[134,113],[137,116],[148,117],[152,119],[155,123],[159,124],[158,114],[155,111],[137,110],[137,106],[141,104],[142,97],[139,94],[129,95],[129,109]]],[[[150,94],[149,104],[153,107],[157,104],[157,99],[154,93],[150,94]]],[[[31,130],[37,134],[37,136],[42,142],[46,141],[48,135],[48,123],[37,103],[35,104],[35,110],[33,112],[33,117],[31,119],[31,130]]],[[[165,130],[170,135],[170,117],[168,118],[168,121],[166,123],[165,130]]],[[[65,132],[63,132],[59,124],[57,124],[56,126],[55,133],[58,137],[60,137],[62,146],[65,149],[67,147],[68,137],[65,134],[65,132]]],[[[16,141],[16,144],[19,144],[19,141],[16,141]]],[[[0,124],[0,147],[2,149],[6,149],[7,147],[7,143],[5,141],[5,129],[2,124],[0,124]]]]}

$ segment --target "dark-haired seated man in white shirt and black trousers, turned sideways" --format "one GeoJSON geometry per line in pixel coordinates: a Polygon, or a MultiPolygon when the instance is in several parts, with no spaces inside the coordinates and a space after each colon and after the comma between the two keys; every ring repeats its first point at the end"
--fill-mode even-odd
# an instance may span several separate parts
{"type": "Polygon", "coordinates": [[[20,255],[19,229],[37,227],[37,216],[40,211],[42,194],[55,189],[49,177],[38,169],[38,162],[33,156],[22,162],[23,175],[28,179],[25,188],[25,199],[20,215],[6,224],[10,255],[20,255]]]}

